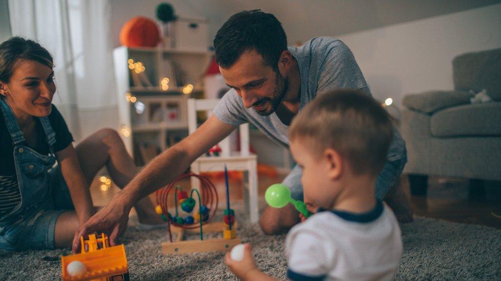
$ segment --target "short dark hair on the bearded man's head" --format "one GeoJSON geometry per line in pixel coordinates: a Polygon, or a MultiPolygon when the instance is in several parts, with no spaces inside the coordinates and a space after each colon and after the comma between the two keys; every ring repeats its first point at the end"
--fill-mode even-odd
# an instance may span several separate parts
{"type": "Polygon", "coordinates": [[[234,14],[219,29],[214,38],[216,61],[229,68],[246,51],[256,51],[264,63],[278,70],[278,60],[287,50],[287,36],[280,21],[261,10],[234,14]]]}

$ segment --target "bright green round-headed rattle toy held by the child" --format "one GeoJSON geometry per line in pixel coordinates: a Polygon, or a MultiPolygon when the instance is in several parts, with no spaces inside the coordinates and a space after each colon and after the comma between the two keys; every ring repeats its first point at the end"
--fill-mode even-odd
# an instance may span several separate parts
{"type": "Polygon", "coordinates": [[[312,215],[312,213],[306,209],[306,204],[302,201],[292,199],[291,190],[281,183],[270,185],[264,193],[264,200],[268,205],[274,208],[283,208],[288,203],[291,203],[305,218],[312,215]]]}

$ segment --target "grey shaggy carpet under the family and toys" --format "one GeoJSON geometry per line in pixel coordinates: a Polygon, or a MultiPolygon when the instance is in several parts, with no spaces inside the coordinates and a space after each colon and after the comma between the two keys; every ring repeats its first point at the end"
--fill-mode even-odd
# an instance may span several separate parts
{"type": "MultiPolygon", "coordinates": [[[[253,245],[258,267],[273,277],[285,279],[283,254],[285,235],[264,235],[250,224],[241,207],[234,207],[238,235],[253,245]]],[[[221,211],[222,212],[222,211],[221,211]]],[[[123,237],[132,280],[227,280],[235,279],[224,265],[223,253],[162,254],[160,244],[168,240],[166,230],[140,231],[131,218],[123,237]]],[[[501,280],[501,230],[415,218],[401,225],[404,250],[396,279],[501,280]]],[[[221,235],[219,235],[221,236],[221,235]]],[[[186,239],[199,239],[189,235],[186,239]]],[[[61,279],[59,255],[69,249],[6,252],[0,250],[0,280],[61,279]]]]}

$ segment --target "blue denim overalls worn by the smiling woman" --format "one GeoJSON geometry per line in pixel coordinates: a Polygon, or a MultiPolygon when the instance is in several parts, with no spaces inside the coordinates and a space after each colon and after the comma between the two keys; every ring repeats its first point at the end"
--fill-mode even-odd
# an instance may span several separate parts
{"type": "Polygon", "coordinates": [[[55,133],[49,119],[40,117],[49,144],[49,155],[41,155],[26,145],[17,119],[3,98],[0,98],[0,109],[12,138],[15,172],[21,192],[21,203],[0,218],[0,249],[52,249],[55,222],[64,211],[54,210],[52,195],[54,189],[60,190],[60,187],[54,186],[51,178],[55,175],[61,179],[53,153],[55,133]]]}

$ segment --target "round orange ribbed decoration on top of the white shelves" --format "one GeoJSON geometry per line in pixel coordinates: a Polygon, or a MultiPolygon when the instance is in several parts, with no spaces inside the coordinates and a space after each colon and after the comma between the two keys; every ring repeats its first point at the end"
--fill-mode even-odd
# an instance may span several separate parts
{"type": "Polygon", "coordinates": [[[129,19],[120,32],[120,43],[127,47],[157,47],[159,42],[157,23],[147,17],[129,19]]]}

